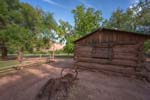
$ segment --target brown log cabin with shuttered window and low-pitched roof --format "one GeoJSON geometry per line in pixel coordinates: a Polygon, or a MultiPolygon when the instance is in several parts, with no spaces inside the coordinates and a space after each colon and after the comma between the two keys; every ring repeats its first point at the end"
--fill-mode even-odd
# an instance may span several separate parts
{"type": "Polygon", "coordinates": [[[75,66],[125,75],[141,72],[147,39],[149,34],[99,28],[74,42],[75,66]]]}

